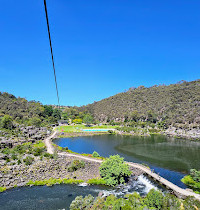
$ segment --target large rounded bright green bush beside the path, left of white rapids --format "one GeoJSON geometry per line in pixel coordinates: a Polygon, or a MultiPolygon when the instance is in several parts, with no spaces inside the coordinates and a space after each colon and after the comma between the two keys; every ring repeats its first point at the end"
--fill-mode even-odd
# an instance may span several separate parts
{"type": "Polygon", "coordinates": [[[107,185],[115,186],[124,183],[131,175],[129,166],[124,163],[124,158],[119,155],[110,156],[100,166],[100,175],[107,185]]]}

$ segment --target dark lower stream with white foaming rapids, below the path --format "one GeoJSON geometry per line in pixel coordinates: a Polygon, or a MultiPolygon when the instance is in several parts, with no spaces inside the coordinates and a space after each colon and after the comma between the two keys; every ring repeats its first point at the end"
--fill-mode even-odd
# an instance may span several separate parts
{"type": "Polygon", "coordinates": [[[70,203],[76,196],[86,196],[88,194],[94,197],[102,192],[104,196],[114,194],[118,197],[132,192],[138,192],[145,195],[150,189],[161,189],[156,183],[147,179],[143,175],[139,176],[137,181],[132,180],[127,185],[119,187],[106,186],[86,186],[80,185],[54,185],[22,187],[7,190],[0,193],[0,209],[2,210],[55,210],[69,209],[70,203]]]}

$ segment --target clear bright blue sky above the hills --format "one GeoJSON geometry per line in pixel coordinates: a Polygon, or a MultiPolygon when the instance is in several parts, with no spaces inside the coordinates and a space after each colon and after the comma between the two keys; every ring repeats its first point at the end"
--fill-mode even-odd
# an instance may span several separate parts
{"type": "MultiPolygon", "coordinates": [[[[47,0],[62,105],[200,78],[200,1],[47,0]]],[[[56,104],[42,0],[1,1],[0,91],[56,104]]]]}

